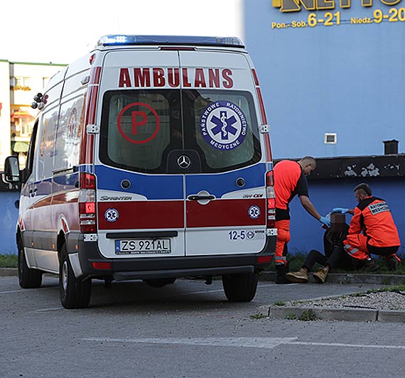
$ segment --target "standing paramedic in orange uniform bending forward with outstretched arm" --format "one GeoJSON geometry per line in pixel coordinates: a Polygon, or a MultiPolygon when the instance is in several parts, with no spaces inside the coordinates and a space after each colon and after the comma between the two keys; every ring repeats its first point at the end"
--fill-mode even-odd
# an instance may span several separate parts
{"type": "Polygon", "coordinates": [[[298,194],[301,205],[316,220],[330,227],[330,219],[322,217],[308,196],[309,175],[316,168],[315,158],[306,156],[300,161],[283,160],[274,166],[274,191],[276,193],[277,244],[274,263],[276,265],[276,284],[290,284],[286,279],[287,243],[290,240],[290,212],[288,204],[298,194]]]}

